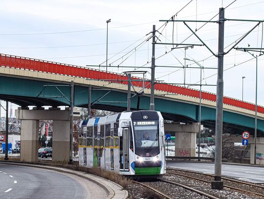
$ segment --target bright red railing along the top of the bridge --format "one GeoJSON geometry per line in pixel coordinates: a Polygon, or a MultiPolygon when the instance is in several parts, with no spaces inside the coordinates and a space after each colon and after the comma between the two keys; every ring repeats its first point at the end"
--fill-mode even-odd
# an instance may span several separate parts
{"type": "MultiPolygon", "coordinates": [[[[127,84],[127,77],[122,74],[106,72],[103,70],[97,70],[87,67],[67,65],[62,63],[49,62],[38,59],[31,59],[20,56],[0,54],[0,66],[10,67],[10,68],[19,68],[23,70],[32,70],[38,72],[47,72],[60,75],[67,75],[73,77],[89,78],[89,79],[98,79],[98,80],[108,80],[108,82],[115,82],[119,84],[127,84]],[[111,81],[112,80],[112,81],[111,81]]],[[[133,79],[140,80],[139,78],[132,77],[133,79]]],[[[132,82],[133,85],[141,87],[143,82],[132,82]]],[[[145,83],[148,85],[148,82],[145,83]]],[[[150,88],[150,84],[147,86],[150,88]]],[[[155,90],[161,90],[169,93],[176,93],[180,95],[186,95],[190,97],[199,98],[199,90],[193,88],[184,88],[181,86],[158,83],[155,84],[155,90]]],[[[202,91],[202,99],[209,101],[216,101],[216,94],[211,92],[202,91]]],[[[244,102],[238,99],[223,97],[223,103],[231,105],[234,107],[240,107],[242,109],[247,109],[255,111],[255,104],[244,102]]],[[[264,113],[264,107],[258,106],[258,112],[264,113]]]]}

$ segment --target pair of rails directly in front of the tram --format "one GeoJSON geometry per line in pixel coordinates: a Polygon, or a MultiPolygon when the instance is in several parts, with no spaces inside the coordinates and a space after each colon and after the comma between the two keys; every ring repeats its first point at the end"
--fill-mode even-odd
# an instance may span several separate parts
{"type": "MultiPolygon", "coordinates": [[[[201,191],[199,191],[199,190],[197,190],[197,189],[194,189],[194,188],[192,188],[192,187],[189,187],[189,186],[186,186],[186,185],[183,185],[183,184],[180,184],[180,183],[176,183],[176,182],[168,181],[168,180],[165,180],[165,179],[158,179],[158,180],[161,181],[161,182],[165,182],[165,183],[168,183],[168,184],[173,184],[173,185],[176,185],[176,186],[182,187],[182,188],[187,189],[187,190],[189,190],[189,191],[191,191],[191,192],[197,193],[197,194],[199,194],[199,195],[201,195],[201,196],[206,196],[206,197],[209,198],[209,199],[219,199],[219,198],[214,197],[214,196],[212,196],[212,195],[210,195],[210,194],[207,194],[207,193],[201,192],[201,191]]],[[[164,194],[163,192],[157,190],[156,188],[154,188],[154,187],[152,187],[152,186],[150,186],[150,185],[148,185],[148,184],[146,184],[146,183],[142,183],[142,182],[138,182],[138,181],[133,181],[133,180],[132,180],[132,182],[133,182],[133,183],[140,184],[140,185],[142,185],[142,186],[144,186],[144,187],[146,187],[146,188],[149,188],[149,189],[151,189],[152,191],[154,191],[155,193],[160,194],[161,196],[165,197],[166,199],[174,199],[174,198],[168,196],[167,194],[164,194]]]]}

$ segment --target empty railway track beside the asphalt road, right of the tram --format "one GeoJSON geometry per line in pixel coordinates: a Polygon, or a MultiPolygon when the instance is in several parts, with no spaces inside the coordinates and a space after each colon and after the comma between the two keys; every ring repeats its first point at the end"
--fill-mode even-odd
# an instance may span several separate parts
{"type": "MultiPolygon", "coordinates": [[[[198,177],[190,177],[190,176],[187,176],[187,175],[184,175],[184,174],[168,172],[168,170],[172,170],[172,171],[176,171],[176,172],[193,173],[193,174],[198,174],[198,175],[203,175],[203,176],[208,176],[208,177],[214,177],[214,175],[212,175],[212,174],[203,174],[203,173],[194,172],[194,171],[179,170],[179,169],[168,169],[167,168],[167,172],[166,172],[167,174],[173,174],[173,175],[188,177],[188,178],[192,178],[192,179],[199,180],[199,181],[202,181],[202,182],[207,182],[207,183],[211,183],[211,181],[205,180],[205,179],[201,179],[201,178],[198,178],[198,177]]],[[[262,185],[253,184],[253,183],[249,183],[249,182],[243,182],[243,181],[231,179],[231,178],[228,178],[228,177],[222,177],[222,179],[226,180],[226,181],[242,184],[242,186],[245,186],[245,185],[250,186],[250,187],[248,187],[248,189],[252,189],[252,187],[254,187],[256,189],[262,189],[262,190],[259,190],[259,192],[261,192],[261,191],[263,192],[263,190],[264,190],[264,186],[262,186],[262,185]]],[[[229,185],[224,185],[224,187],[229,188],[229,189],[234,189],[234,190],[237,190],[237,191],[241,191],[241,192],[245,192],[245,193],[248,193],[248,194],[254,194],[254,195],[257,195],[257,196],[264,197],[263,193],[258,193],[256,191],[255,192],[248,191],[245,188],[244,189],[240,189],[240,188],[229,186],[229,185]]]]}

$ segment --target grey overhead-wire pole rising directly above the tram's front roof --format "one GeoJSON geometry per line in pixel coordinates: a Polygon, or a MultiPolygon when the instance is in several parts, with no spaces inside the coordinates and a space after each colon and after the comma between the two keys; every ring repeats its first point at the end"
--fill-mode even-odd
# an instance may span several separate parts
{"type": "Polygon", "coordinates": [[[154,90],[155,90],[155,32],[156,26],[153,25],[152,31],[152,58],[151,58],[151,102],[150,111],[154,111],[154,90]]]}

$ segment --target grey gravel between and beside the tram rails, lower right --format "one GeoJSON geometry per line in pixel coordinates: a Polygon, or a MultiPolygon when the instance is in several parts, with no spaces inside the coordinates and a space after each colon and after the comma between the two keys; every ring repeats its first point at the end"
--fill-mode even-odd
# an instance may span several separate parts
{"type": "MultiPolygon", "coordinates": [[[[175,171],[167,169],[167,172],[175,172],[175,171]]],[[[198,179],[204,179],[208,181],[211,181],[213,179],[212,177],[205,176],[203,174],[187,173],[183,171],[175,172],[175,173],[184,174],[190,177],[197,177],[198,179]]],[[[211,183],[202,182],[199,180],[191,179],[189,177],[183,177],[174,174],[166,174],[160,178],[192,187],[194,189],[197,189],[201,192],[207,193],[219,199],[264,199],[264,197],[257,196],[255,194],[249,194],[246,192],[237,191],[226,187],[224,187],[223,190],[213,190],[211,189],[211,183]]],[[[148,181],[148,182],[143,181],[143,182],[175,199],[208,199],[205,196],[201,196],[195,192],[189,191],[187,189],[184,189],[182,187],[173,184],[168,184],[166,182],[161,182],[158,180],[148,181]]],[[[264,189],[261,187],[243,185],[242,183],[239,182],[231,182],[224,180],[224,185],[238,187],[240,189],[249,190],[251,192],[264,194],[264,189]]],[[[129,191],[130,199],[164,199],[164,197],[160,195],[152,194],[153,191],[139,184],[130,185],[128,191],[129,191]]]]}

